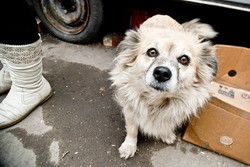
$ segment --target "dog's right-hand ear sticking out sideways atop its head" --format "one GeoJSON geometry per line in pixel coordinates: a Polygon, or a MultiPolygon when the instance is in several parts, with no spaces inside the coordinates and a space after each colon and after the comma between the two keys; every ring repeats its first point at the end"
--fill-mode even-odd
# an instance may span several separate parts
{"type": "Polygon", "coordinates": [[[211,39],[218,33],[214,31],[213,27],[209,24],[200,23],[199,19],[193,19],[191,21],[182,24],[185,31],[198,35],[199,39],[211,39]]]}

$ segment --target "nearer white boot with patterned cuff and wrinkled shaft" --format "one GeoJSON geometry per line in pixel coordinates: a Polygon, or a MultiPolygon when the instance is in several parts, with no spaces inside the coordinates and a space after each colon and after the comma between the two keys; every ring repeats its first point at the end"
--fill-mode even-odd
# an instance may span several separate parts
{"type": "Polygon", "coordinates": [[[52,95],[48,81],[42,76],[41,40],[28,45],[0,44],[10,77],[11,89],[0,103],[0,129],[24,119],[52,95]]]}

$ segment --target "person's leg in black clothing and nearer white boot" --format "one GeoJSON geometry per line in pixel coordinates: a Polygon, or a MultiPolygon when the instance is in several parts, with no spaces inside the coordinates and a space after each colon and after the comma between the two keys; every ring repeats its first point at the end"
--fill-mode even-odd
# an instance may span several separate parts
{"type": "MultiPolygon", "coordinates": [[[[6,23],[0,28],[0,57],[12,85],[0,103],[0,129],[21,121],[52,95],[50,84],[42,75],[41,39],[36,21],[25,0],[9,2],[4,3],[10,5],[6,6],[11,9],[10,15],[0,16],[1,22],[6,23]]],[[[3,7],[3,2],[0,6],[3,7]]]]}

